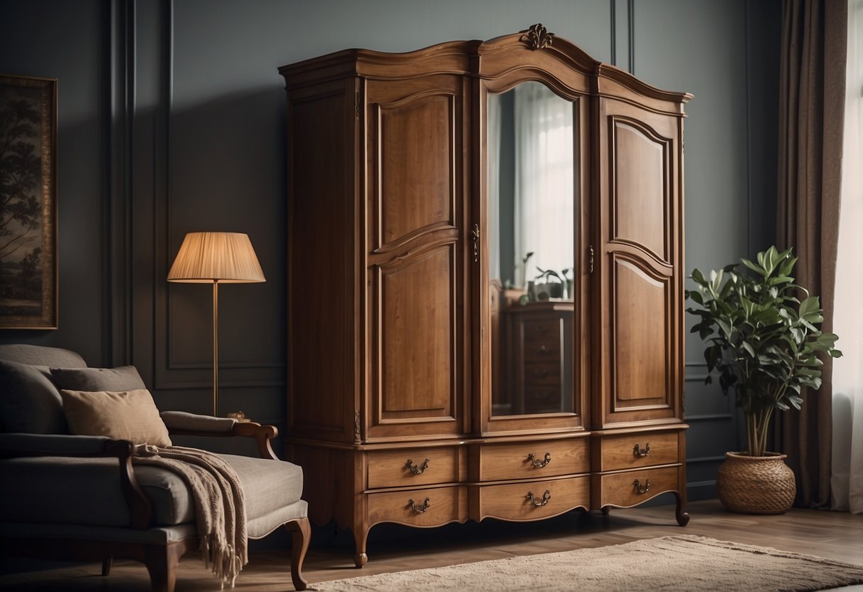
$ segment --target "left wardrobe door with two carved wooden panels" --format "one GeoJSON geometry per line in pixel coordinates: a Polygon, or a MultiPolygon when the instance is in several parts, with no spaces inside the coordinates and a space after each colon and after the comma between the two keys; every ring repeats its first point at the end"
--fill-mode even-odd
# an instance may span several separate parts
{"type": "Polygon", "coordinates": [[[366,82],[367,440],[465,431],[466,84],[366,82]]]}

